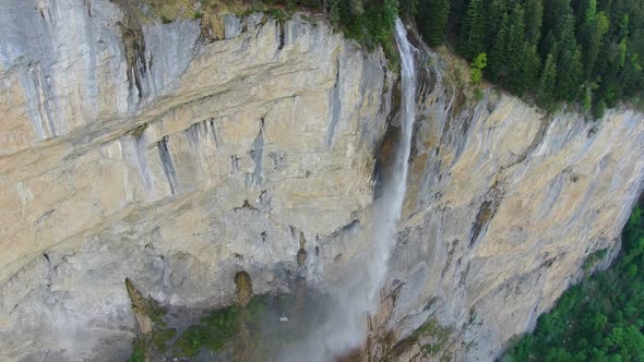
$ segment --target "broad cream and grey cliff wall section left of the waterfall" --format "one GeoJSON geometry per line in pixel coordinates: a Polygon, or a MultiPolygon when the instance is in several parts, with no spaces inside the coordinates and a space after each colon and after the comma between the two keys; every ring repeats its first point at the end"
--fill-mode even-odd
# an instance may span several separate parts
{"type": "Polygon", "coordinates": [[[241,269],[278,290],[371,203],[392,77],[323,23],[206,45],[108,1],[0,7],[0,359],[123,359],[126,277],[190,307],[241,269]]]}

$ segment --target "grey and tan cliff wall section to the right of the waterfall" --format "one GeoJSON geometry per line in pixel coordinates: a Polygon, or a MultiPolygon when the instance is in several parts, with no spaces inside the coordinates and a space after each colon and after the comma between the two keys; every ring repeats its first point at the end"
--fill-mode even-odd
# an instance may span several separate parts
{"type": "MultiPolygon", "coordinates": [[[[434,358],[490,361],[584,275],[589,255],[607,251],[586,270],[619,251],[643,186],[644,116],[547,117],[493,90],[467,100],[441,71],[445,57],[426,63],[387,326],[408,336],[436,318],[449,328],[434,358]]],[[[421,359],[419,347],[440,339],[425,337],[396,353],[421,359]]]]}

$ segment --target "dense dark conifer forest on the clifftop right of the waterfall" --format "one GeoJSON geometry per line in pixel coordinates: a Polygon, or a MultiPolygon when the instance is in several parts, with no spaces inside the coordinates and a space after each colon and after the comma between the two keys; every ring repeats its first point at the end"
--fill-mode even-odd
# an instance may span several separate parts
{"type": "Polygon", "coordinates": [[[580,102],[599,118],[641,104],[644,0],[420,0],[408,12],[430,46],[448,34],[469,60],[486,52],[489,81],[546,109],[580,102]]]}

